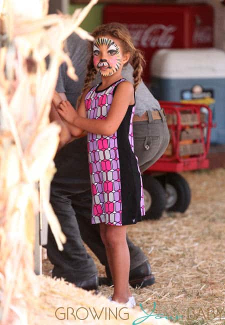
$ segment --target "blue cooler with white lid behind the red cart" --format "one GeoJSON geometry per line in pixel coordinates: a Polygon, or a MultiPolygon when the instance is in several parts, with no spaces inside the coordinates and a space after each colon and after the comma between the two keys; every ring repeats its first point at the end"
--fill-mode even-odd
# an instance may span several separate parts
{"type": "Polygon", "coordinates": [[[225,52],[215,48],[160,49],[151,60],[152,94],[159,100],[212,109],[211,143],[225,143],[225,52]]]}

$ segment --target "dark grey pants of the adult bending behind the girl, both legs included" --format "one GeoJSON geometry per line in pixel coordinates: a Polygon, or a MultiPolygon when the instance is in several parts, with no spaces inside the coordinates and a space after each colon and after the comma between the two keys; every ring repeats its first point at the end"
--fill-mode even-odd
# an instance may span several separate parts
{"type": "MultiPolygon", "coordinates": [[[[164,152],[168,130],[163,120],[134,122],[134,150],[141,171],[146,169],[164,152]]],[[[47,254],[54,265],[52,275],[77,283],[97,273],[93,259],[86,252],[82,239],[107,266],[99,226],[90,223],[91,192],[87,162],[86,138],[74,140],[55,156],[57,172],[51,182],[50,202],[62,231],[67,237],[64,250],[59,251],[53,234],[48,231],[47,254]],[[82,238],[82,239],[81,239],[82,238]]],[[[130,269],[147,260],[143,251],[127,237],[130,269]]]]}

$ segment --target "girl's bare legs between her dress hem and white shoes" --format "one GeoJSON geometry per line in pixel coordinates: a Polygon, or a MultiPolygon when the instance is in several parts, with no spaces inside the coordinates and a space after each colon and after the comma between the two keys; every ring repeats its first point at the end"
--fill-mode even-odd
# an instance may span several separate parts
{"type": "Polygon", "coordinates": [[[112,300],[125,303],[131,295],[128,288],[130,257],[126,241],[126,226],[104,224],[104,227],[102,239],[103,242],[105,241],[114,284],[112,300]]]}

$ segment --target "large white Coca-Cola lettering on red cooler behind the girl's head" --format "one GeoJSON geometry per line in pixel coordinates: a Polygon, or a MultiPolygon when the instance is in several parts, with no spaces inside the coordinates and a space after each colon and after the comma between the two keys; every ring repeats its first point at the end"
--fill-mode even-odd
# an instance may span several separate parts
{"type": "Polygon", "coordinates": [[[161,23],[147,24],[126,24],[136,47],[171,47],[174,40],[174,25],[161,23]]]}

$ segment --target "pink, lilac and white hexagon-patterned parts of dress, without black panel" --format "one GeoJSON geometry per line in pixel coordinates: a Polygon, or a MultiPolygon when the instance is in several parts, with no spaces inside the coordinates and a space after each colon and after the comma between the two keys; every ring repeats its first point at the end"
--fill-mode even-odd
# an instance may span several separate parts
{"type": "MultiPolygon", "coordinates": [[[[105,119],[110,108],[113,89],[118,80],[104,91],[96,91],[98,85],[92,87],[85,96],[88,118],[105,119]]],[[[135,106],[133,106],[132,116],[135,106]]],[[[133,151],[132,117],[129,125],[129,143],[133,151]]],[[[122,225],[122,202],[119,153],[117,133],[104,136],[88,132],[87,151],[92,190],[91,223],[105,222],[111,225],[122,225]]],[[[140,177],[141,178],[141,177],[140,177]]],[[[142,188],[142,184],[141,184],[142,188]]],[[[141,190],[140,207],[144,215],[143,191],[141,190]]]]}

